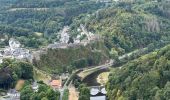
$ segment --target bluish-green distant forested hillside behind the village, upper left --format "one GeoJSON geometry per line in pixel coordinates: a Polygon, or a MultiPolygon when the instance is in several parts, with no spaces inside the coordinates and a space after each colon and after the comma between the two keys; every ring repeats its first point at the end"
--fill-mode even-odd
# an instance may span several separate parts
{"type": "Polygon", "coordinates": [[[92,13],[103,3],[90,0],[0,0],[0,46],[10,37],[26,47],[57,41],[57,33],[76,16],[92,13]]]}

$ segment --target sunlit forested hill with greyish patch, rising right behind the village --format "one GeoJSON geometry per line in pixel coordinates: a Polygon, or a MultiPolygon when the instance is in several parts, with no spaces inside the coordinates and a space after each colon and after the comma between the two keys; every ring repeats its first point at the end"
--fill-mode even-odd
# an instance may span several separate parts
{"type": "Polygon", "coordinates": [[[120,0],[88,17],[75,18],[72,28],[85,24],[89,31],[105,36],[108,48],[121,54],[169,42],[169,5],[167,0],[120,0]]]}

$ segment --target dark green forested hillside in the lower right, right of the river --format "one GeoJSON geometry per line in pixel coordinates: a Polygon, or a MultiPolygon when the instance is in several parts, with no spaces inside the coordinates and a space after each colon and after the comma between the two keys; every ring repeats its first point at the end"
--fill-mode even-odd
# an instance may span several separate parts
{"type": "Polygon", "coordinates": [[[109,100],[169,100],[170,45],[112,72],[107,91],[109,100]]]}

